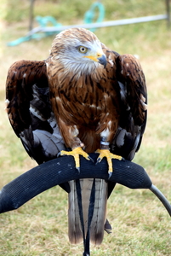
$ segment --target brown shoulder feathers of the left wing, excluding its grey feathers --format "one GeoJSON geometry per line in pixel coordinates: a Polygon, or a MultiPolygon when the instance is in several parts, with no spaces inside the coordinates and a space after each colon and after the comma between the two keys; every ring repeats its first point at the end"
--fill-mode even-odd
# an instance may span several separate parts
{"type": "Polygon", "coordinates": [[[16,61],[9,68],[6,82],[7,112],[17,136],[30,125],[32,85],[48,87],[44,61],[16,61]]]}

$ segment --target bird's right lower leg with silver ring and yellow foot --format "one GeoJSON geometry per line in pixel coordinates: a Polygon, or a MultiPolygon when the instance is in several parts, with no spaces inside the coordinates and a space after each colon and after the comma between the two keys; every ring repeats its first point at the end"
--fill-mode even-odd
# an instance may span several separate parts
{"type": "Polygon", "coordinates": [[[95,153],[100,154],[96,164],[100,163],[100,161],[106,157],[107,163],[108,163],[108,173],[109,177],[111,177],[111,174],[113,172],[113,167],[112,167],[112,159],[117,159],[117,160],[122,160],[122,156],[117,155],[117,154],[112,154],[110,152],[109,148],[110,143],[107,141],[107,137],[101,137],[100,140],[100,149],[97,149],[95,153]]]}

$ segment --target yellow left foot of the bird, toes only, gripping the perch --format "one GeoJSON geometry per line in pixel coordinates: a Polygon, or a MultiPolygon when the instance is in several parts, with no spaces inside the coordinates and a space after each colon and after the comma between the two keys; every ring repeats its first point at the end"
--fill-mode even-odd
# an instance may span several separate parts
{"type": "Polygon", "coordinates": [[[71,151],[61,150],[60,155],[71,155],[71,156],[73,156],[78,172],[80,172],[79,155],[82,155],[86,160],[91,160],[91,161],[94,162],[94,160],[85,151],[83,151],[83,149],[81,147],[73,148],[71,151]]]}

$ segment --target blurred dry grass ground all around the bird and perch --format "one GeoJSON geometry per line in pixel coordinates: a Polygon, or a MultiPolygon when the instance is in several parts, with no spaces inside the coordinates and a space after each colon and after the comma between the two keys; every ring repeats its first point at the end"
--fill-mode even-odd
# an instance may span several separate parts
{"type": "MultiPolygon", "coordinates": [[[[63,25],[83,22],[94,1],[35,2],[34,16],[52,15],[63,25]]],[[[165,14],[165,1],[105,0],[105,20],[165,14]]],[[[25,36],[30,2],[1,0],[0,9],[0,188],[36,166],[12,131],[4,112],[5,80],[14,61],[48,57],[54,36],[7,47],[25,36]]],[[[34,21],[34,26],[37,26],[34,21]]],[[[100,28],[100,41],[120,54],[139,55],[148,89],[148,122],[140,152],[134,162],[145,167],[152,182],[171,201],[171,30],[166,20],[100,28]]],[[[108,203],[113,232],[105,235],[91,255],[162,256],[171,253],[168,212],[148,190],[117,185],[108,203]]],[[[83,245],[71,246],[67,238],[67,195],[54,187],[23,207],[0,216],[0,256],[82,255],[83,245]]]]}

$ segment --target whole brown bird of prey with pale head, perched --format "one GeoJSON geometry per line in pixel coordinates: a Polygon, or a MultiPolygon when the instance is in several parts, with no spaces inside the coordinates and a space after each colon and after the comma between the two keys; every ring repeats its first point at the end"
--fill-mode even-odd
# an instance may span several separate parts
{"type": "MultiPolygon", "coordinates": [[[[31,158],[38,164],[68,154],[80,172],[79,157],[133,160],[146,124],[145,75],[134,55],[119,55],[83,28],[60,32],[45,61],[16,61],[6,84],[9,121],[31,158]]],[[[95,164],[95,163],[94,163],[95,164]]],[[[100,164],[99,164],[100,165],[100,164]]],[[[65,170],[64,170],[65,172],[65,170]]],[[[115,171],[113,171],[115,172],[115,171]]],[[[88,230],[88,206],[95,183],[90,240],[100,244],[105,230],[106,201],[115,183],[79,180],[82,228],[76,181],[61,184],[69,193],[69,239],[83,241],[88,230]],[[83,232],[85,234],[83,234],[83,232]]],[[[108,230],[109,226],[109,230],[108,230]]]]}

